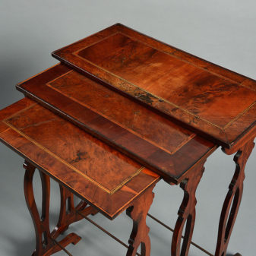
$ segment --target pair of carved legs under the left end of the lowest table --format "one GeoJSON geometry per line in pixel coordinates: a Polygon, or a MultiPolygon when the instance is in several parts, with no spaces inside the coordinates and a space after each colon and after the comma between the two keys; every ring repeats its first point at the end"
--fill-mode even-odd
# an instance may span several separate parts
{"type": "Polygon", "coordinates": [[[35,167],[25,161],[24,168],[26,169],[24,176],[24,194],[27,202],[27,207],[30,211],[30,215],[33,220],[35,232],[36,232],[36,249],[33,251],[33,256],[48,256],[52,255],[57,251],[61,251],[70,243],[77,244],[81,240],[81,237],[75,233],[71,233],[58,242],[55,243],[58,235],[68,229],[68,226],[75,221],[81,220],[81,216],[77,216],[74,213],[74,209],[82,210],[86,215],[91,213],[96,213],[92,207],[86,207],[86,204],[81,201],[77,207],[74,207],[73,194],[66,188],[61,188],[61,210],[58,219],[58,224],[52,233],[49,230],[49,200],[50,200],[50,179],[49,176],[43,172],[40,172],[40,178],[42,182],[42,214],[40,213],[36,206],[36,201],[33,194],[33,175],[35,172],[35,167]],[[66,206],[68,204],[68,207],[66,206]],[[70,217],[70,219],[69,219],[70,217]],[[61,245],[61,247],[59,246],[61,245]]]}

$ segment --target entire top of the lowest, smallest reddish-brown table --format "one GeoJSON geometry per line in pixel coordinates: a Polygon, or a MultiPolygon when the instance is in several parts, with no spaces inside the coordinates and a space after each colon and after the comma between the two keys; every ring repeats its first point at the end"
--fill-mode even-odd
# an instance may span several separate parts
{"type": "Polygon", "coordinates": [[[2,109],[0,118],[3,143],[110,219],[159,180],[148,169],[132,179],[141,168],[138,163],[27,98],[2,109]],[[85,154],[77,156],[77,152],[85,154]],[[100,184],[103,176],[106,181],[100,184]],[[113,194],[104,189],[124,180],[113,194]]]}

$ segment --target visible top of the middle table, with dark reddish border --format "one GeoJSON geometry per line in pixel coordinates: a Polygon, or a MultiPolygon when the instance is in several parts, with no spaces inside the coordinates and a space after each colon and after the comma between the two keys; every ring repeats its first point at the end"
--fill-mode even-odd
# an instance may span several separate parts
{"type": "Polygon", "coordinates": [[[25,96],[179,183],[215,145],[65,65],[17,85],[25,96]]]}

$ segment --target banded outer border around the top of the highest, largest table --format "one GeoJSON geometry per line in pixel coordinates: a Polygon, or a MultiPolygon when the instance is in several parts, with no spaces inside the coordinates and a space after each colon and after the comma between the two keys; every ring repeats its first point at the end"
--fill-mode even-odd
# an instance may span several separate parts
{"type": "MultiPolygon", "coordinates": [[[[231,148],[235,144],[240,143],[243,141],[245,134],[254,127],[254,114],[256,110],[255,102],[248,109],[244,109],[248,115],[240,115],[242,114],[240,113],[239,116],[237,116],[239,118],[239,122],[237,122],[238,119],[235,118],[233,120],[234,123],[229,125],[228,128],[218,127],[216,124],[211,124],[210,122],[201,119],[198,115],[189,113],[188,109],[182,109],[179,105],[169,102],[154,93],[150,93],[149,90],[143,89],[141,84],[133,84],[125,77],[122,77],[122,75],[113,74],[108,68],[102,68],[101,66],[96,65],[93,61],[90,61],[80,55],[80,52],[83,52],[85,49],[90,49],[91,46],[95,46],[97,43],[101,43],[103,40],[106,40],[111,36],[115,36],[116,34],[127,36],[137,43],[149,46],[152,49],[149,55],[154,52],[162,52],[164,55],[172,56],[172,58],[176,58],[181,62],[194,66],[198,70],[200,69],[210,75],[223,79],[222,83],[228,82],[229,84],[236,84],[239,87],[245,87],[247,90],[251,91],[251,93],[254,93],[256,90],[256,81],[249,77],[245,77],[242,74],[235,73],[234,71],[230,71],[211,62],[207,62],[202,58],[198,58],[197,56],[184,52],[181,49],[177,49],[166,43],[160,42],[159,40],[155,40],[152,37],[133,30],[130,27],[126,27],[123,24],[114,24],[98,33],[94,33],[82,40],[71,43],[71,45],[62,47],[62,49],[52,52],[52,56],[65,65],[68,65],[85,76],[90,77],[90,79],[93,79],[97,83],[110,87],[113,90],[118,90],[119,93],[123,93],[127,97],[136,99],[151,110],[156,111],[160,115],[169,117],[169,119],[175,120],[175,122],[179,123],[182,127],[190,128],[197,134],[206,137],[208,140],[213,141],[222,147],[231,148]]],[[[109,45],[106,44],[105,47],[108,48],[108,46],[109,45]]],[[[91,51],[93,52],[93,56],[98,58],[102,49],[92,49],[91,51]]],[[[128,52],[127,56],[129,54],[131,54],[131,52],[128,52]]],[[[144,52],[136,52],[136,54],[136,56],[141,57],[144,52]]],[[[126,58],[127,56],[124,55],[123,58],[126,58]]],[[[115,57],[116,56],[114,56],[108,63],[115,63],[115,57]]],[[[123,58],[121,61],[122,63],[123,58]]],[[[128,65],[131,68],[132,63],[128,63],[128,65]]],[[[143,73],[143,71],[141,72],[143,73]]],[[[144,76],[147,77],[147,73],[144,76]]],[[[177,75],[177,77],[179,78],[179,75],[177,75]]],[[[194,77],[191,76],[191,80],[193,79],[194,77]]],[[[208,90],[210,91],[210,86],[208,90]]],[[[211,94],[211,96],[214,96],[214,93],[211,94]]]]}

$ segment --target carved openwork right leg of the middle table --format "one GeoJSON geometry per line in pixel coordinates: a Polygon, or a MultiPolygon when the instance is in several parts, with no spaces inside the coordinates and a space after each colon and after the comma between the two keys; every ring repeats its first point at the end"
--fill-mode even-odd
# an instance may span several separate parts
{"type": "Polygon", "coordinates": [[[204,163],[200,163],[191,170],[188,179],[181,183],[181,188],[184,190],[184,198],[178,212],[178,220],[175,224],[175,229],[172,236],[172,256],[188,256],[188,251],[192,239],[195,220],[195,205],[197,200],[195,192],[204,172],[204,163]],[[181,248],[182,231],[185,227],[185,237],[181,248]]]}

